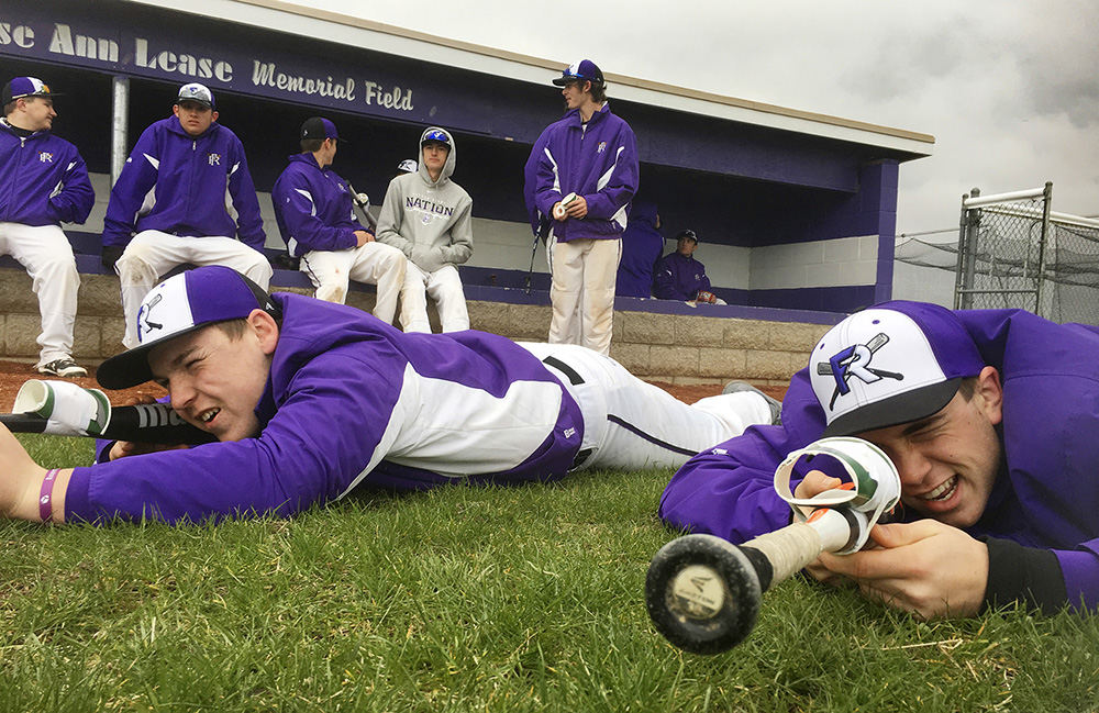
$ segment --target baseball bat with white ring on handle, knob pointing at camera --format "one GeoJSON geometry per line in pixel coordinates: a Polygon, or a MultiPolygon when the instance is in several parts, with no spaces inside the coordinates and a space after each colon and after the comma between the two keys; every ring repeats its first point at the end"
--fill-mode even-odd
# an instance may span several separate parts
{"type": "Polygon", "coordinates": [[[679,648],[718,654],[744,640],[764,592],[821,553],[850,555],[866,544],[870,527],[900,499],[900,476],[872,443],[822,438],[787,456],[775,471],[775,490],[790,504],[792,524],[743,545],[686,535],[653,557],[645,605],[657,631],[679,648]],[[800,474],[823,470],[845,482],[813,498],[795,498],[796,466],[800,474]]]}

